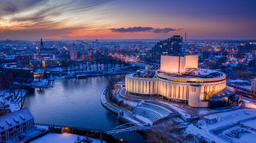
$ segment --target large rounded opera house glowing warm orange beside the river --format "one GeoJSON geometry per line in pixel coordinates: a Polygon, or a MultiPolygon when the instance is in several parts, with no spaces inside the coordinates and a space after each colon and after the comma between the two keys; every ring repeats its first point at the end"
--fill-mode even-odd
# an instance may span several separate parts
{"type": "Polygon", "coordinates": [[[216,70],[198,69],[198,55],[161,55],[160,67],[146,67],[125,77],[128,94],[161,96],[191,107],[218,108],[229,105],[235,90],[216,70]]]}

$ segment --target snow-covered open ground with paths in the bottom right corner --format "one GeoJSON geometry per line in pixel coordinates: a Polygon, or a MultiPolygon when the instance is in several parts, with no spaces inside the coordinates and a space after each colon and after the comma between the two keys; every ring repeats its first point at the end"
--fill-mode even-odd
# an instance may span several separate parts
{"type": "Polygon", "coordinates": [[[245,108],[233,106],[221,110],[198,110],[198,114],[203,116],[204,120],[189,125],[186,133],[201,135],[215,142],[256,142],[255,130],[249,129],[256,128],[255,101],[242,101],[245,108]]]}

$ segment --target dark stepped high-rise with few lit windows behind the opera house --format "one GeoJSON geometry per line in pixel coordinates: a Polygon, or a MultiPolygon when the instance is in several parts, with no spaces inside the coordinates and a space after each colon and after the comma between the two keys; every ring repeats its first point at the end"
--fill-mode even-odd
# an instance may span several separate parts
{"type": "Polygon", "coordinates": [[[160,61],[161,55],[180,54],[180,51],[182,50],[181,43],[182,37],[180,36],[173,36],[164,41],[157,42],[151,51],[152,60],[160,61]]]}

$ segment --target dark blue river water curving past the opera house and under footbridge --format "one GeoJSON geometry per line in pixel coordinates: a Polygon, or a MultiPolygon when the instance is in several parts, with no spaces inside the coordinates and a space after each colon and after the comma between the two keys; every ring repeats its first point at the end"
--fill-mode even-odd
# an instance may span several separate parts
{"type": "MultiPolygon", "coordinates": [[[[122,123],[116,114],[103,107],[100,95],[109,79],[121,76],[86,79],[62,79],[56,76],[53,88],[29,91],[24,107],[31,111],[35,123],[113,129],[122,123]]],[[[146,142],[137,132],[118,133],[115,137],[128,142],[146,142]]]]}

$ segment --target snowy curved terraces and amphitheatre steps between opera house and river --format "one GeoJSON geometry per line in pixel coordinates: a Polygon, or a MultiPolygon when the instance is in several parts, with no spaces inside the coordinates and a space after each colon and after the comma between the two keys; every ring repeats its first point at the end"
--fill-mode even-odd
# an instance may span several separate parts
{"type": "Polygon", "coordinates": [[[123,100],[125,103],[131,104],[131,106],[134,107],[134,111],[127,111],[124,108],[107,101],[107,90],[108,88],[104,89],[101,93],[101,103],[108,110],[118,114],[119,119],[124,122],[149,123],[150,125],[153,125],[158,120],[171,119],[173,117],[180,118],[184,122],[191,122],[199,119],[197,112],[192,110],[189,111],[189,108],[184,104],[173,104],[160,97],[137,97],[130,95],[127,94],[125,88],[120,85],[118,88],[119,100],[123,100]],[[122,111],[124,112],[123,116],[119,115],[122,111]]]}

